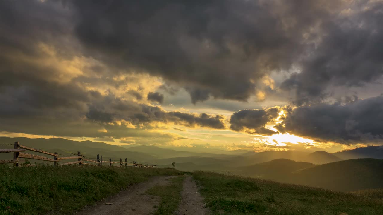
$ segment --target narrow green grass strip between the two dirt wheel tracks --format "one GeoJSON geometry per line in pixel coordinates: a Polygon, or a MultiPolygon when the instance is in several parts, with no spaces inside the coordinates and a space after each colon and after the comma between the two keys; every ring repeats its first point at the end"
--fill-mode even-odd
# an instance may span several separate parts
{"type": "Polygon", "coordinates": [[[146,191],[147,195],[157,195],[161,198],[160,205],[153,212],[155,215],[173,214],[181,202],[182,182],[185,177],[169,179],[170,183],[165,186],[156,185],[146,191]]]}

